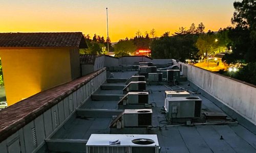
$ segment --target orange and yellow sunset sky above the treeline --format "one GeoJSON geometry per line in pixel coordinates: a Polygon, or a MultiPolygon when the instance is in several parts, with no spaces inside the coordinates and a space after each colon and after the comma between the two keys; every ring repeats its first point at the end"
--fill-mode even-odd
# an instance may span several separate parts
{"type": "Polygon", "coordinates": [[[0,32],[82,32],[106,37],[106,7],[112,42],[157,36],[203,22],[205,30],[231,25],[234,0],[0,0],[0,32]]]}

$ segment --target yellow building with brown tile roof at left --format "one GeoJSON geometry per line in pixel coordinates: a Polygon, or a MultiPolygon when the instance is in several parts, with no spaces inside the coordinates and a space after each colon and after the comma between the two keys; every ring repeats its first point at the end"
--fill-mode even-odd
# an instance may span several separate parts
{"type": "Polygon", "coordinates": [[[87,48],[81,32],[1,33],[8,105],[80,77],[79,48],[87,48]]]}

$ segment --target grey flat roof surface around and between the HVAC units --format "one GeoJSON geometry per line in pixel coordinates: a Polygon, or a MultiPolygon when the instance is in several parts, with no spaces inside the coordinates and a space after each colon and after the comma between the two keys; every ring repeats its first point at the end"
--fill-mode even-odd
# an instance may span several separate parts
{"type": "MultiPolygon", "coordinates": [[[[114,78],[128,79],[137,71],[113,72],[114,78]]],[[[108,78],[108,76],[107,76],[108,78]]],[[[181,88],[195,91],[189,82],[181,82],[179,87],[170,86],[173,90],[182,90],[181,88]],[[180,88],[181,87],[181,88],[180,88]]],[[[86,103],[84,103],[76,113],[50,138],[56,140],[88,140],[91,134],[110,134],[110,123],[113,114],[119,114],[118,97],[121,96],[122,86],[125,83],[104,83],[102,87],[116,86],[114,90],[97,90],[86,103]],[[100,112],[105,115],[100,115],[100,112]],[[95,112],[95,113],[94,113],[95,112]],[[81,117],[80,114],[88,113],[81,117]]],[[[168,86],[167,86],[168,87],[168,86]]],[[[165,91],[170,90],[164,85],[147,85],[149,91],[148,103],[155,103],[153,110],[153,126],[163,126],[161,129],[152,128],[146,131],[146,134],[156,134],[158,137],[160,152],[256,152],[256,135],[247,130],[239,122],[198,124],[198,125],[177,125],[163,124],[165,114],[161,113],[164,106],[165,91]],[[221,139],[222,136],[222,139],[221,139]]],[[[197,92],[197,91],[195,91],[197,92]]],[[[202,101],[203,112],[225,113],[217,107],[212,101],[200,93],[191,95],[199,96],[202,101]]],[[[228,116],[228,118],[232,118],[228,116]]],[[[129,132],[123,134],[136,134],[139,130],[132,128],[129,132]]],[[[143,133],[143,132],[142,132],[143,133]]],[[[75,149],[75,148],[74,148],[75,149]]],[[[75,150],[74,150],[75,151],[75,150]]],[[[54,151],[53,151],[54,152],[54,151]]],[[[85,152],[85,150],[84,150],[85,152]]]]}

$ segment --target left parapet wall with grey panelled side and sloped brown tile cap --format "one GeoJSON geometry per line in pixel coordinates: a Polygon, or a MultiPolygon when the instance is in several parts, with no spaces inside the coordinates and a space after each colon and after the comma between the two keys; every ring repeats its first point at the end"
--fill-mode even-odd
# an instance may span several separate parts
{"type": "Polygon", "coordinates": [[[36,152],[105,80],[103,68],[1,111],[0,152],[36,152]]]}

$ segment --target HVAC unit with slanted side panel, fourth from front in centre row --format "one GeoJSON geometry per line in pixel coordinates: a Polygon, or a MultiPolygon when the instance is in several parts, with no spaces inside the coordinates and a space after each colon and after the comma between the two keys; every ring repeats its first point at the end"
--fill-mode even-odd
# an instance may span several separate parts
{"type": "Polygon", "coordinates": [[[146,90],[145,81],[130,82],[126,87],[124,87],[123,92],[129,91],[144,91],[146,90]]]}

